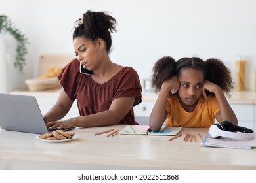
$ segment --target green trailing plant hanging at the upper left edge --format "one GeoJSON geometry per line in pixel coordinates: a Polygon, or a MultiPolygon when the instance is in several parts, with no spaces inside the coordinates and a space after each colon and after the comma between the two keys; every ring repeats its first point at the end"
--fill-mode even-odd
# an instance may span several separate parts
{"type": "Polygon", "coordinates": [[[20,32],[11,22],[11,20],[5,16],[0,15],[0,34],[1,33],[9,33],[16,39],[17,48],[16,48],[16,61],[14,62],[14,66],[18,67],[20,71],[23,71],[24,65],[26,65],[26,54],[28,50],[26,48],[26,44],[28,44],[28,38],[24,34],[20,32]]]}

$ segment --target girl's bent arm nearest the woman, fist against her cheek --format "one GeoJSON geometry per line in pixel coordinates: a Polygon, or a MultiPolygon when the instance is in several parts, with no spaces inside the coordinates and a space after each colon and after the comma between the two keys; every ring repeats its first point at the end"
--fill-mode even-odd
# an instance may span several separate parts
{"type": "Polygon", "coordinates": [[[168,112],[165,110],[169,93],[175,94],[179,90],[180,82],[177,77],[173,76],[161,85],[158,99],[150,114],[150,129],[160,131],[163,122],[167,118],[168,112]]]}

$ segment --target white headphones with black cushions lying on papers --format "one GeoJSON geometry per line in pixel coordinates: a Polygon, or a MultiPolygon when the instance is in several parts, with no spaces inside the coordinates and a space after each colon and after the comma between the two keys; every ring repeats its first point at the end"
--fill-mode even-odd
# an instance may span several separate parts
{"type": "Polygon", "coordinates": [[[254,138],[253,130],[236,126],[230,121],[223,121],[220,124],[211,125],[209,133],[213,138],[228,137],[232,139],[249,140],[254,138]]]}

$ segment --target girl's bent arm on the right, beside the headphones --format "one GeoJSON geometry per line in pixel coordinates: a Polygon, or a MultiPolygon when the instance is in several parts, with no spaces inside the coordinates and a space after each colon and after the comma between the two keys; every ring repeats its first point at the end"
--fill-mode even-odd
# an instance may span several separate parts
{"type": "Polygon", "coordinates": [[[217,84],[214,84],[206,80],[205,83],[203,84],[202,90],[203,96],[205,98],[207,97],[205,90],[208,90],[209,92],[213,92],[215,94],[220,109],[220,111],[217,114],[215,114],[215,118],[218,120],[218,122],[228,120],[232,122],[234,125],[238,125],[238,119],[236,118],[236,114],[234,114],[234,111],[232,110],[228,101],[226,100],[223,90],[221,90],[221,88],[217,84]]]}

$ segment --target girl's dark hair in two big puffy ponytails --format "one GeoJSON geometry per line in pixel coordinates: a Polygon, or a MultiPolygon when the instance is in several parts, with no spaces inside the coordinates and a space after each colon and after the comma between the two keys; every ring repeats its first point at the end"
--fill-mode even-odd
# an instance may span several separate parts
{"type": "MultiPolygon", "coordinates": [[[[217,84],[223,92],[230,95],[234,88],[231,71],[224,65],[223,61],[217,58],[210,58],[203,61],[200,58],[181,58],[178,61],[170,56],[160,58],[153,67],[152,87],[159,92],[165,80],[172,76],[181,75],[181,69],[198,69],[203,72],[205,80],[217,84]]],[[[207,95],[210,93],[208,92],[207,95]]]]}

